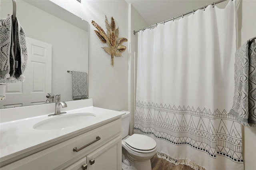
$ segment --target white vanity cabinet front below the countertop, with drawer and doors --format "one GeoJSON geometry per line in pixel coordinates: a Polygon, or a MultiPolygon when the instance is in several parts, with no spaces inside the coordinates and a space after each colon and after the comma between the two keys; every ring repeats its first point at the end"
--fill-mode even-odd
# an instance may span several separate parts
{"type": "Polygon", "coordinates": [[[121,117],[1,167],[10,169],[121,170],[121,117]]]}

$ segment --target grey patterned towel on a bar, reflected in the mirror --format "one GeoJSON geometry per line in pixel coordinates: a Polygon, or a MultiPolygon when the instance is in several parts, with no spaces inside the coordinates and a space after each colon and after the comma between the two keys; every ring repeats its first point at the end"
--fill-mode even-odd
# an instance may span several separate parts
{"type": "Polygon", "coordinates": [[[72,71],[72,99],[88,98],[87,73],[72,71]]]}

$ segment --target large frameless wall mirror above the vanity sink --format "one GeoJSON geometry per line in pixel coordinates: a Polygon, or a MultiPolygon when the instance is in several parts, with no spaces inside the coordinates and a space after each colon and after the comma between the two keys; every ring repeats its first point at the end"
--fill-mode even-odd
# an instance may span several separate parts
{"type": "MultiPolygon", "coordinates": [[[[0,18],[7,18],[12,1],[0,3],[0,18]]],[[[7,83],[0,108],[43,104],[47,93],[72,100],[72,74],[67,71],[88,73],[88,22],[50,0],[17,0],[16,17],[26,33],[28,57],[37,61],[28,61],[24,82],[7,83]]]]}

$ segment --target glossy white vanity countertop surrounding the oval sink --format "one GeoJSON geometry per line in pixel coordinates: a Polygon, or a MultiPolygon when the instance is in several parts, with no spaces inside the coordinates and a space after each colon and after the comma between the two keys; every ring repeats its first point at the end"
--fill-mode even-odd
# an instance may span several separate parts
{"type": "MultiPolygon", "coordinates": [[[[90,99],[87,99],[90,100],[90,99]]],[[[84,100],[85,102],[88,102],[84,100]]],[[[84,104],[84,101],[77,101],[81,105],[84,104]]],[[[73,105],[74,102],[66,102],[68,107],[69,105],[73,105]]],[[[92,101],[90,101],[92,103],[92,101]]],[[[45,146],[50,147],[50,144],[55,142],[62,142],[67,140],[69,136],[74,134],[78,134],[81,132],[86,132],[88,130],[92,130],[100,125],[103,125],[107,122],[113,121],[115,119],[120,118],[124,115],[123,112],[112,111],[108,109],[102,109],[98,107],[83,105],[78,109],[74,109],[74,106],[71,107],[72,110],[68,110],[67,108],[62,109],[61,111],[66,111],[64,115],[72,114],[72,113],[94,113],[96,114],[96,118],[86,121],[86,123],[80,123],[78,125],[74,125],[71,127],[53,129],[53,130],[37,130],[34,129],[33,126],[45,119],[52,119],[55,116],[48,117],[47,113],[44,115],[37,115],[35,117],[28,117],[24,119],[18,119],[13,121],[6,121],[0,123],[0,161],[6,161],[8,159],[14,158],[16,156],[22,157],[22,154],[27,152],[33,152],[33,150],[38,152],[38,148],[44,149],[45,146]],[[83,107],[86,106],[86,107],[83,107]]],[[[42,107],[42,106],[41,106],[42,107]]],[[[47,107],[47,106],[44,106],[47,107]]],[[[28,108],[31,109],[31,108],[28,108]]],[[[36,107],[33,108],[33,110],[36,107]]],[[[18,109],[16,109],[18,111],[18,109]]],[[[36,111],[36,110],[34,110],[36,111]]],[[[1,109],[1,112],[3,110],[1,109]]],[[[31,112],[31,111],[30,111],[31,112]]],[[[38,112],[38,110],[37,110],[38,112]]],[[[54,111],[52,111],[54,113],[54,111]]],[[[6,114],[3,114],[6,116],[6,114]]],[[[3,117],[1,113],[1,119],[3,117]]]]}

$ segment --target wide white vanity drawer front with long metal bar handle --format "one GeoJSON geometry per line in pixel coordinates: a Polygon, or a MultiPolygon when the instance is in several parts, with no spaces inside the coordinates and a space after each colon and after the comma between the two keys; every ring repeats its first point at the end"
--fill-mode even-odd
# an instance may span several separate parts
{"type": "Polygon", "coordinates": [[[52,170],[54,168],[59,169],[58,167],[67,167],[68,165],[76,162],[76,160],[86,156],[86,154],[96,150],[120,134],[121,119],[118,119],[101,127],[90,130],[89,132],[51,146],[40,152],[22,158],[4,167],[1,167],[1,170],[52,170]],[[99,136],[100,139],[97,138],[96,140],[97,136],[99,136]],[[96,141],[93,142],[94,140],[96,141]],[[88,146],[82,148],[85,145],[88,146]],[[73,151],[75,147],[77,149],[82,149],[78,152],[75,152],[73,151]]]}

